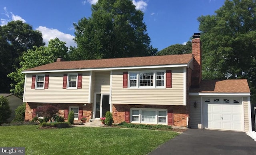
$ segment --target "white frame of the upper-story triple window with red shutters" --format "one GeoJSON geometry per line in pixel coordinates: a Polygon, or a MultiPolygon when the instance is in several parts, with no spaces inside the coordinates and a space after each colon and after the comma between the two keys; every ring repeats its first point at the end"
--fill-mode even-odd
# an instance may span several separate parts
{"type": "MultiPolygon", "coordinates": [[[[131,79],[133,80],[133,79],[131,79]]],[[[132,89],[165,89],[166,88],[166,71],[165,70],[148,70],[148,71],[130,71],[128,72],[128,88],[132,89]],[[140,73],[150,73],[152,72],[153,75],[153,86],[140,86],[140,73]],[[164,86],[156,86],[156,73],[157,72],[164,72],[164,86]],[[130,74],[137,74],[137,81],[136,81],[136,87],[130,86],[130,74]]]]}

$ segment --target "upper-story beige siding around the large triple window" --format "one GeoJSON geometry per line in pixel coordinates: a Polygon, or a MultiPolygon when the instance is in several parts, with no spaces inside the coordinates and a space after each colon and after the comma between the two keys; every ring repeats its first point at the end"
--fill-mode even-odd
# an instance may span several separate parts
{"type": "Polygon", "coordinates": [[[172,88],[123,88],[123,72],[138,70],[114,70],[112,72],[112,104],[183,105],[183,68],[158,70],[172,70],[172,88]]]}

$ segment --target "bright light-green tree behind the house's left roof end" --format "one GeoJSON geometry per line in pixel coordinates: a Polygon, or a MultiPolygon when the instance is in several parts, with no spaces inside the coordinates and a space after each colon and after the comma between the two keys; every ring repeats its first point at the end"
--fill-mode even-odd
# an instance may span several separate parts
{"type": "Polygon", "coordinates": [[[66,42],[60,41],[58,38],[50,40],[48,46],[36,47],[25,52],[20,62],[20,68],[16,69],[16,72],[8,74],[8,77],[15,82],[11,84],[13,89],[10,91],[17,95],[23,96],[24,79],[25,75],[22,71],[49,64],[61,57],[65,60],[69,60],[68,48],[65,46],[66,42]]]}

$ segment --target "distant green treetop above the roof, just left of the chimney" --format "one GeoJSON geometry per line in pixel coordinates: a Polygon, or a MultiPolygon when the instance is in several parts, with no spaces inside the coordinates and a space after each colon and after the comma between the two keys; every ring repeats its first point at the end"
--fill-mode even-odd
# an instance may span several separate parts
{"type": "Polygon", "coordinates": [[[174,55],[174,54],[188,54],[192,53],[192,43],[188,41],[186,45],[183,44],[174,44],[164,48],[158,52],[158,56],[163,55],[174,55]]]}

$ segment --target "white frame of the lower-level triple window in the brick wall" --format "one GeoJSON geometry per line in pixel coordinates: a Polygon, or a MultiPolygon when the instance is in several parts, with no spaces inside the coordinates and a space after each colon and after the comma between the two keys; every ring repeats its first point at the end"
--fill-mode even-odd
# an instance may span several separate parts
{"type": "MultiPolygon", "coordinates": [[[[136,115],[137,116],[137,115],[136,115]]],[[[152,108],[130,108],[130,122],[131,123],[140,123],[140,124],[163,124],[163,125],[168,125],[168,110],[167,109],[152,109],[152,108]],[[132,121],[132,110],[138,110],[139,111],[139,121],[132,121]],[[156,111],[156,120],[154,122],[142,122],[142,111],[156,111]],[[158,117],[164,117],[164,116],[158,116],[158,111],[166,111],[166,122],[161,123],[158,122],[158,117]]]]}

